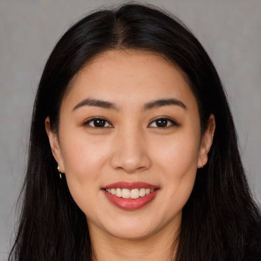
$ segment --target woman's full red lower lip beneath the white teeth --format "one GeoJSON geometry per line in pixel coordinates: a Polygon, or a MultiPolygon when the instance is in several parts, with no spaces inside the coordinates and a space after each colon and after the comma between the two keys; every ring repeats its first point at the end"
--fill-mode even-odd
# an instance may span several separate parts
{"type": "Polygon", "coordinates": [[[115,206],[122,208],[123,210],[138,210],[139,208],[147,205],[156,194],[158,194],[159,189],[155,190],[154,192],[145,195],[144,197],[139,197],[136,199],[132,198],[120,198],[115,195],[108,193],[106,190],[102,190],[105,193],[107,199],[113,203],[115,206]]]}

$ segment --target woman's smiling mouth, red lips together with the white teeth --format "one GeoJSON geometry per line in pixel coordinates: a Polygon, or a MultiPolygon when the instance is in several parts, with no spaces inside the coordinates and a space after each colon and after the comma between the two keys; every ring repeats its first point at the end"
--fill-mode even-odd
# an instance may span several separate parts
{"type": "Polygon", "coordinates": [[[138,210],[150,203],[159,187],[144,182],[116,182],[102,188],[107,199],[123,210],[138,210]]]}

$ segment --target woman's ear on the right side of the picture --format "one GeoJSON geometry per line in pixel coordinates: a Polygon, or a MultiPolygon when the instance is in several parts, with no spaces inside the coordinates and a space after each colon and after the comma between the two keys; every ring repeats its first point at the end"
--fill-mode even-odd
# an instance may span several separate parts
{"type": "Polygon", "coordinates": [[[208,119],[207,129],[201,139],[198,157],[198,168],[202,168],[207,163],[207,153],[208,151],[210,151],[212,145],[215,128],[215,116],[211,114],[210,118],[208,119]]]}

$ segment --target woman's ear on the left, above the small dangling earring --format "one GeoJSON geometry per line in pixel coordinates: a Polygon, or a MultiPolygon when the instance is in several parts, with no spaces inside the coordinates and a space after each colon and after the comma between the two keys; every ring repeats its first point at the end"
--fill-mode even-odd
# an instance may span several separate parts
{"type": "Polygon", "coordinates": [[[45,119],[45,131],[46,131],[47,136],[49,138],[51,153],[53,153],[55,160],[57,161],[57,163],[59,163],[60,172],[64,173],[64,163],[63,163],[63,158],[62,158],[62,153],[61,153],[61,148],[60,148],[58,136],[51,129],[49,117],[47,117],[45,119]]]}

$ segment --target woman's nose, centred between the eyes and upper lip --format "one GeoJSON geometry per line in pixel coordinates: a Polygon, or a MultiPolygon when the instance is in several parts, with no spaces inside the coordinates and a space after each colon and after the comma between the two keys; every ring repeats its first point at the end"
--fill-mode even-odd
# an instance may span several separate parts
{"type": "Polygon", "coordinates": [[[111,165],[116,170],[137,173],[151,166],[143,135],[138,131],[124,131],[116,137],[111,165]]]}

